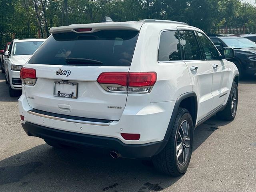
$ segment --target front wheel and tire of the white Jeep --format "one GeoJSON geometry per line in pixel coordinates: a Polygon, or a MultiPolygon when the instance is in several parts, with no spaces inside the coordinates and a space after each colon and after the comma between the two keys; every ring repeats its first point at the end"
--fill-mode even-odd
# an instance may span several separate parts
{"type": "Polygon", "coordinates": [[[224,110],[218,112],[217,116],[222,120],[231,121],[236,117],[237,106],[238,106],[238,87],[236,82],[233,82],[226,107],[224,108],[224,110]]]}

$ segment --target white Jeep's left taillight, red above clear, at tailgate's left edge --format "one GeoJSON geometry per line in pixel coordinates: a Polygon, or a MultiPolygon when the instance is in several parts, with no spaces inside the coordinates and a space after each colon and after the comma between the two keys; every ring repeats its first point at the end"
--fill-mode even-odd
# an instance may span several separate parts
{"type": "Polygon", "coordinates": [[[36,84],[36,70],[23,67],[20,70],[20,78],[22,84],[34,86],[36,84]]]}

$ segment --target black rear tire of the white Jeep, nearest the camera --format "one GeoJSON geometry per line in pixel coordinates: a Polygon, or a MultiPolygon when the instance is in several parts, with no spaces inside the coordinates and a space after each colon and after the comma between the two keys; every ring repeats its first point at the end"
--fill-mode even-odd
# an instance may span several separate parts
{"type": "MultiPolygon", "coordinates": [[[[158,171],[164,174],[168,174],[170,176],[180,176],[184,174],[188,168],[190,158],[192,155],[193,132],[194,132],[194,125],[193,125],[193,120],[190,113],[185,108],[179,108],[168,143],[159,154],[152,157],[152,162],[154,164],[154,167],[158,171]],[[181,124],[184,123],[185,121],[189,125],[187,135],[190,136],[190,140],[186,140],[185,142],[189,141],[190,147],[189,147],[189,151],[186,152],[187,155],[184,163],[180,164],[180,160],[179,160],[180,158],[178,158],[179,152],[176,149],[177,149],[177,144],[179,140],[178,138],[179,137],[182,138],[182,136],[179,134],[180,127],[181,127],[181,124]]],[[[180,142],[181,148],[182,148],[180,150],[184,151],[184,148],[186,148],[184,145],[187,146],[188,143],[185,143],[185,142],[182,143],[182,142],[180,142]]],[[[184,153],[182,152],[182,155],[183,154],[184,153]]],[[[180,157],[181,157],[181,154],[180,154],[180,157]]],[[[183,160],[184,160],[184,156],[182,156],[182,161],[183,160]]]]}

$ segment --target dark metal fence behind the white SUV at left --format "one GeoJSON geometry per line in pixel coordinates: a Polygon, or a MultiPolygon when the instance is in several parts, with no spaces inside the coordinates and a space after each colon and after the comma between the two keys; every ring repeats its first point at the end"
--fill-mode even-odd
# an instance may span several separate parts
{"type": "Polygon", "coordinates": [[[47,38],[49,34],[41,32],[40,30],[31,31],[16,31],[16,32],[0,32],[0,49],[4,47],[7,42],[13,39],[28,39],[28,38],[47,38]]]}

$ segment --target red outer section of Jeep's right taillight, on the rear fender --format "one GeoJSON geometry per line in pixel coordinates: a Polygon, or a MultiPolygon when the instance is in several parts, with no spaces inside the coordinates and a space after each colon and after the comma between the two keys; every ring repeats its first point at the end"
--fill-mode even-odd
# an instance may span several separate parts
{"type": "Polygon", "coordinates": [[[153,86],[156,83],[156,72],[130,72],[128,74],[129,87],[153,86]]]}

